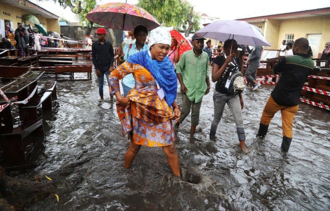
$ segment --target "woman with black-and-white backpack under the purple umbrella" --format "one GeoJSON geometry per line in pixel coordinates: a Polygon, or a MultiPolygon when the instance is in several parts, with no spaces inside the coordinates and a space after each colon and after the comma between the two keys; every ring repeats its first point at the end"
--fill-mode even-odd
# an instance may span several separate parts
{"type": "Polygon", "coordinates": [[[245,152],[245,132],[241,112],[244,106],[241,92],[245,85],[236,54],[237,42],[234,39],[227,39],[223,44],[223,52],[214,58],[212,64],[212,81],[216,81],[216,85],[213,94],[214,118],[209,137],[215,138],[217,125],[227,103],[235,120],[240,148],[245,152]]]}

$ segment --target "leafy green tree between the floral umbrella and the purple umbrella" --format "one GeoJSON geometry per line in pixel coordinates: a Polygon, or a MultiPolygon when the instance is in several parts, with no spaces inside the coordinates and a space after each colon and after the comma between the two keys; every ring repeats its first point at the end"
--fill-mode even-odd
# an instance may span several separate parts
{"type": "Polygon", "coordinates": [[[162,25],[185,30],[186,36],[191,30],[199,29],[199,14],[185,0],[138,0],[137,6],[148,11],[162,25]]]}

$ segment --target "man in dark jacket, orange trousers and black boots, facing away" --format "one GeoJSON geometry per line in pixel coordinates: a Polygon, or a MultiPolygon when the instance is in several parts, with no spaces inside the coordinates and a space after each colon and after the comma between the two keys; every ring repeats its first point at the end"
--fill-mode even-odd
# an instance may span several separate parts
{"type": "Polygon", "coordinates": [[[307,54],[308,49],[308,40],[303,37],[298,38],[292,47],[293,56],[284,58],[274,66],[274,73],[281,72],[281,74],[260,119],[257,136],[264,137],[271,118],[278,110],[281,111],[283,131],[281,149],[284,152],[288,151],[291,144],[293,118],[299,107],[301,88],[314,67],[313,61],[307,54]]]}

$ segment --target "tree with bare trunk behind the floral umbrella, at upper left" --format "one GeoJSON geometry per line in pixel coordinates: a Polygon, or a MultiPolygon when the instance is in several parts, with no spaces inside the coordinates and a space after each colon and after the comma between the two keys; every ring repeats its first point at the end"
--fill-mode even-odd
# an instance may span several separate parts
{"type": "Polygon", "coordinates": [[[95,8],[96,0],[53,0],[54,2],[58,2],[60,6],[66,8],[67,6],[71,9],[73,13],[75,13],[79,19],[79,22],[82,25],[87,25],[87,30],[85,31],[85,35],[89,35],[91,31],[91,27],[93,26],[93,22],[89,21],[86,18],[87,13],[95,8]]]}

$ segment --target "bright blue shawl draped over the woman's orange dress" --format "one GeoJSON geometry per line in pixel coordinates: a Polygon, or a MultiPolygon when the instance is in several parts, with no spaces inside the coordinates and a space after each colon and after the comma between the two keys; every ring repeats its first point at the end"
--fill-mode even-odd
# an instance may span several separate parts
{"type": "Polygon", "coordinates": [[[166,55],[162,61],[151,59],[148,50],[135,53],[128,57],[127,61],[132,64],[144,66],[163,88],[165,100],[169,106],[172,106],[176,97],[176,74],[174,66],[166,55]]]}

